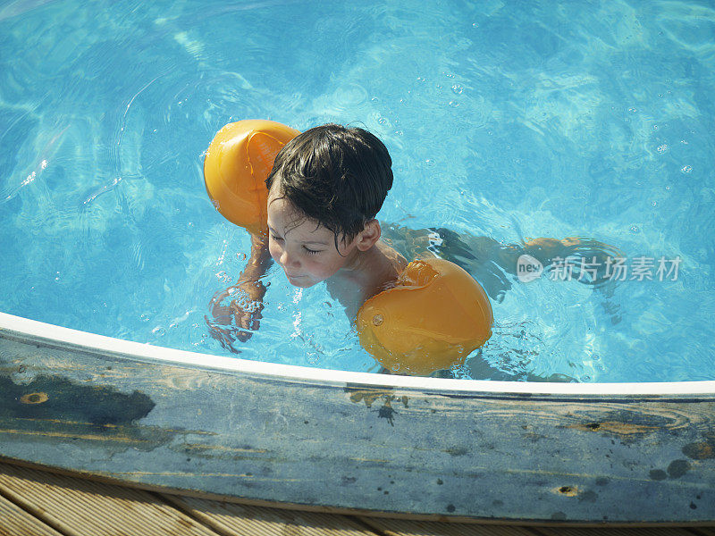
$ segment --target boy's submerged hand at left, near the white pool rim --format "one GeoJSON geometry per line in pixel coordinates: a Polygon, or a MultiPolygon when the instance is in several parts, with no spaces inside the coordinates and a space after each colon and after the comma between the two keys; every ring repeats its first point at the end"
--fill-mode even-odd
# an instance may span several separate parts
{"type": "Polygon", "coordinates": [[[256,331],[260,325],[264,296],[264,284],[254,280],[239,281],[232,287],[217,292],[209,302],[214,318],[204,317],[211,336],[218,340],[223,348],[238,354],[239,349],[234,347],[236,339],[246,342],[253,335],[251,331],[256,331]],[[236,298],[226,305],[226,299],[234,296],[236,298]]]}

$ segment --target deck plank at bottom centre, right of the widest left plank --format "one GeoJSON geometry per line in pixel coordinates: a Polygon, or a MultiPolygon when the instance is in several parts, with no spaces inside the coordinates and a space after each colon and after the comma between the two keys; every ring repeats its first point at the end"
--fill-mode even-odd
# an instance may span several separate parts
{"type": "Polygon", "coordinates": [[[304,534],[306,536],[375,536],[349,516],[317,514],[279,508],[252,507],[202,498],[162,494],[216,532],[227,535],[304,534]]]}

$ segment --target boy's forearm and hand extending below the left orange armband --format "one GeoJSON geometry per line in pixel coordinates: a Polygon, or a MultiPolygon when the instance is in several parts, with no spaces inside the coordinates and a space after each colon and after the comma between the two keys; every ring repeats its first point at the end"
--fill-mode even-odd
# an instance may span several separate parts
{"type": "Polygon", "coordinates": [[[214,294],[209,302],[213,319],[207,316],[205,318],[211,336],[231,352],[238,353],[238,349],[233,347],[236,339],[242,342],[250,339],[252,333],[243,330],[258,329],[265,296],[265,285],[261,278],[271,264],[273,259],[268,251],[267,239],[260,239],[252,234],[251,253],[239,280],[228,289],[214,294]],[[233,296],[236,299],[226,304],[227,298],[233,296]]]}

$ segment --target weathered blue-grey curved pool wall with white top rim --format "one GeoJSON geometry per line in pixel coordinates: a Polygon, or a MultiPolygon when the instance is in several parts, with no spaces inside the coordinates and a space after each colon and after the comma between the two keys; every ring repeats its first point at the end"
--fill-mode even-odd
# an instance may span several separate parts
{"type": "Polygon", "coordinates": [[[341,373],[0,314],[0,456],[375,515],[715,520],[715,381],[341,373]]]}

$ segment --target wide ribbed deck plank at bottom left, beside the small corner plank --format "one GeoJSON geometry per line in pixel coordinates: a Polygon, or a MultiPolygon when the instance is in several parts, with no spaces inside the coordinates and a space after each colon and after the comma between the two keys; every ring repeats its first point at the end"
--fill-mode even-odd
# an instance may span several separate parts
{"type": "Polygon", "coordinates": [[[147,491],[27,467],[0,464],[0,494],[68,536],[216,536],[147,491]]]}

